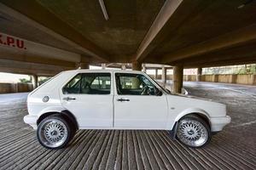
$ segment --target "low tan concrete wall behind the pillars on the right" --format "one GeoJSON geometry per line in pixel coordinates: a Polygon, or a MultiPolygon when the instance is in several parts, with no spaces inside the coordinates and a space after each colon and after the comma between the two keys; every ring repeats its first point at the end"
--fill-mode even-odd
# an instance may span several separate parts
{"type": "MultiPolygon", "coordinates": [[[[154,78],[154,75],[149,75],[154,78]]],[[[158,75],[158,79],[161,79],[161,75],[158,75]]],[[[167,75],[167,80],[172,80],[172,75],[167,75]]],[[[183,81],[196,81],[196,75],[184,75],[183,81]]],[[[252,75],[202,75],[202,82],[224,82],[224,83],[236,83],[246,85],[256,85],[256,74],[252,75]]]]}

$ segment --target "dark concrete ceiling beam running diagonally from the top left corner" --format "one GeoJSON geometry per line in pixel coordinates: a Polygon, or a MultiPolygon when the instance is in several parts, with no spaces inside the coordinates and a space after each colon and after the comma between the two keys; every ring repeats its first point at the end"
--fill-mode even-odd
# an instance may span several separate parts
{"type": "Polygon", "coordinates": [[[16,20],[20,20],[29,26],[33,26],[40,31],[44,31],[56,39],[66,42],[73,48],[77,48],[96,59],[108,61],[109,57],[102,48],[99,48],[93,42],[86,39],[78,31],[75,31],[72,26],[69,26],[64,21],[51,14],[49,10],[42,7],[36,1],[17,0],[3,1],[0,0],[0,12],[9,14],[16,20]],[[32,8],[28,10],[27,7],[32,8]],[[60,29],[61,28],[61,29],[60,29]]]}

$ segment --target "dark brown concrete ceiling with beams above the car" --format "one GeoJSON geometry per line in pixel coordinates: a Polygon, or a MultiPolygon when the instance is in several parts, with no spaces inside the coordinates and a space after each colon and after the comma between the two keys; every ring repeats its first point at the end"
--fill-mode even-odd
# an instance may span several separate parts
{"type": "MultiPolygon", "coordinates": [[[[256,62],[256,1],[104,3],[108,20],[98,1],[0,0],[0,32],[79,54],[80,62],[91,64],[138,61],[196,67],[256,62]]],[[[26,54],[26,62],[49,58],[32,57],[26,54]]],[[[17,61],[3,54],[0,59],[17,61]]],[[[60,62],[49,65],[61,63],[61,56],[55,59],[60,62]]]]}

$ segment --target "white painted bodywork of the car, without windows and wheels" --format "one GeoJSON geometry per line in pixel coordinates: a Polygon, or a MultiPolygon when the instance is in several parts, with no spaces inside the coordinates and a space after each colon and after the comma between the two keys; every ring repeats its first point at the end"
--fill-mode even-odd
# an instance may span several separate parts
{"type": "Polygon", "coordinates": [[[230,123],[226,106],[206,99],[187,95],[119,95],[116,90],[114,73],[136,73],[148,78],[156,88],[160,86],[142,71],[74,70],[63,71],[32,91],[27,98],[29,115],[24,122],[37,129],[37,120],[44,113],[64,110],[75,116],[80,129],[164,129],[172,130],[175,122],[190,113],[207,117],[212,132],[218,132],[230,123]],[[63,94],[62,88],[75,75],[82,72],[111,73],[110,94],[63,94]],[[49,96],[48,102],[43,102],[49,96]],[[71,97],[76,100],[64,101],[71,97]],[[117,99],[130,99],[119,102],[117,99]]]}

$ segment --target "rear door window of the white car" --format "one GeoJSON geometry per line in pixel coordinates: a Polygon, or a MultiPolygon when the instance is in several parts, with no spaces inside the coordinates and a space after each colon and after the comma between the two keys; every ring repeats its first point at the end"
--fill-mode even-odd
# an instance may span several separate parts
{"type": "Polygon", "coordinates": [[[110,94],[110,73],[80,73],[62,89],[63,94],[110,94]]]}

